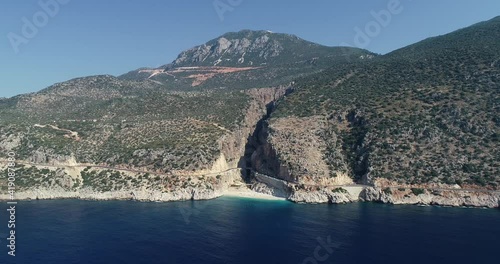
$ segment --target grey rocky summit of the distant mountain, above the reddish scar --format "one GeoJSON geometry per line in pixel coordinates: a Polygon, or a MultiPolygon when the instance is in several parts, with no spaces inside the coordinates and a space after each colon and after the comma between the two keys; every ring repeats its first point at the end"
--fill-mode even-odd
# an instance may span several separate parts
{"type": "Polygon", "coordinates": [[[265,30],[230,32],[182,52],[164,68],[193,66],[332,66],[332,62],[371,59],[375,54],[347,47],[327,47],[290,34],[265,30]]]}

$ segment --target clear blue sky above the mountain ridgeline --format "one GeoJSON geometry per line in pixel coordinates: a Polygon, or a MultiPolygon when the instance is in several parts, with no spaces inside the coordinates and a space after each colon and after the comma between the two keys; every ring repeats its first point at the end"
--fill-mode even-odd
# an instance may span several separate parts
{"type": "MultiPolygon", "coordinates": [[[[217,0],[235,4],[223,19],[214,0],[52,0],[68,3],[48,21],[39,1],[2,1],[0,97],[74,77],[160,66],[184,49],[241,29],[291,33],[328,46],[355,45],[355,28],[364,30],[374,21],[371,11],[386,10],[391,0],[217,0]],[[38,32],[18,43],[16,53],[9,33],[23,37],[23,17],[33,21],[35,14],[38,32]]],[[[500,15],[498,0],[400,3],[401,12],[365,48],[384,54],[500,15]]]]}

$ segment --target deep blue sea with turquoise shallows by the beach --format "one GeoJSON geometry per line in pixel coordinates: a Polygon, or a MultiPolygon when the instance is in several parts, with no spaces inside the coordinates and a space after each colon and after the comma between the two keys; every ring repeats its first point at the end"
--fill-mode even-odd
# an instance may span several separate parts
{"type": "Polygon", "coordinates": [[[500,210],[491,209],[238,198],[21,202],[15,258],[7,255],[2,211],[0,263],[500,261],[500,210]]]}

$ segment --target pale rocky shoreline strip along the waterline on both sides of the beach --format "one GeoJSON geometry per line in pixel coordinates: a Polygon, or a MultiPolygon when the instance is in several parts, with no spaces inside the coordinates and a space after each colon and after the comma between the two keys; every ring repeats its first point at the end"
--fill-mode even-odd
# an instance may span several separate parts
{"type": "MultiPolygon", "coordinates": [[[[66,191],[60,189],[36,189],[15,193],[15,200],[133,200],[141,202],[172,202],[189,200],[210,200],[224,196],[227,186],[221,189],[203,189],[188,187],[172,192],[145,191],[145,190],[121,190],[111,192],[97,192],[91,189],[78,191],[66,191]]],[[[451,190],[431,192],[425,190],[423,193],[401,194],[400,192],[389,193],[387,188],[379,187],[356,187],[346,186],[336,189],[320,189],[315,191],[294,190],[284,191],[266,183],[255,182],[251,190],[246,192],[265,194],[269,197],[286,199],[290,202],[301,204],[346,204],[353,202],[376,202],[393,205],[429,205],[449,207],[475,207],[475,208],[499,208],[500,193],[489,191],[464,191],[451,190]],[[339,191],[342,190],[342,191],[339,191]]],[[[230,196],[235,196],[234,194],[230,196]]],[[[237,195],[236,195],[237,196],[237,195]]],[[[9,200],[8,194],[0,194],[0,200],[9,200]]]]}

